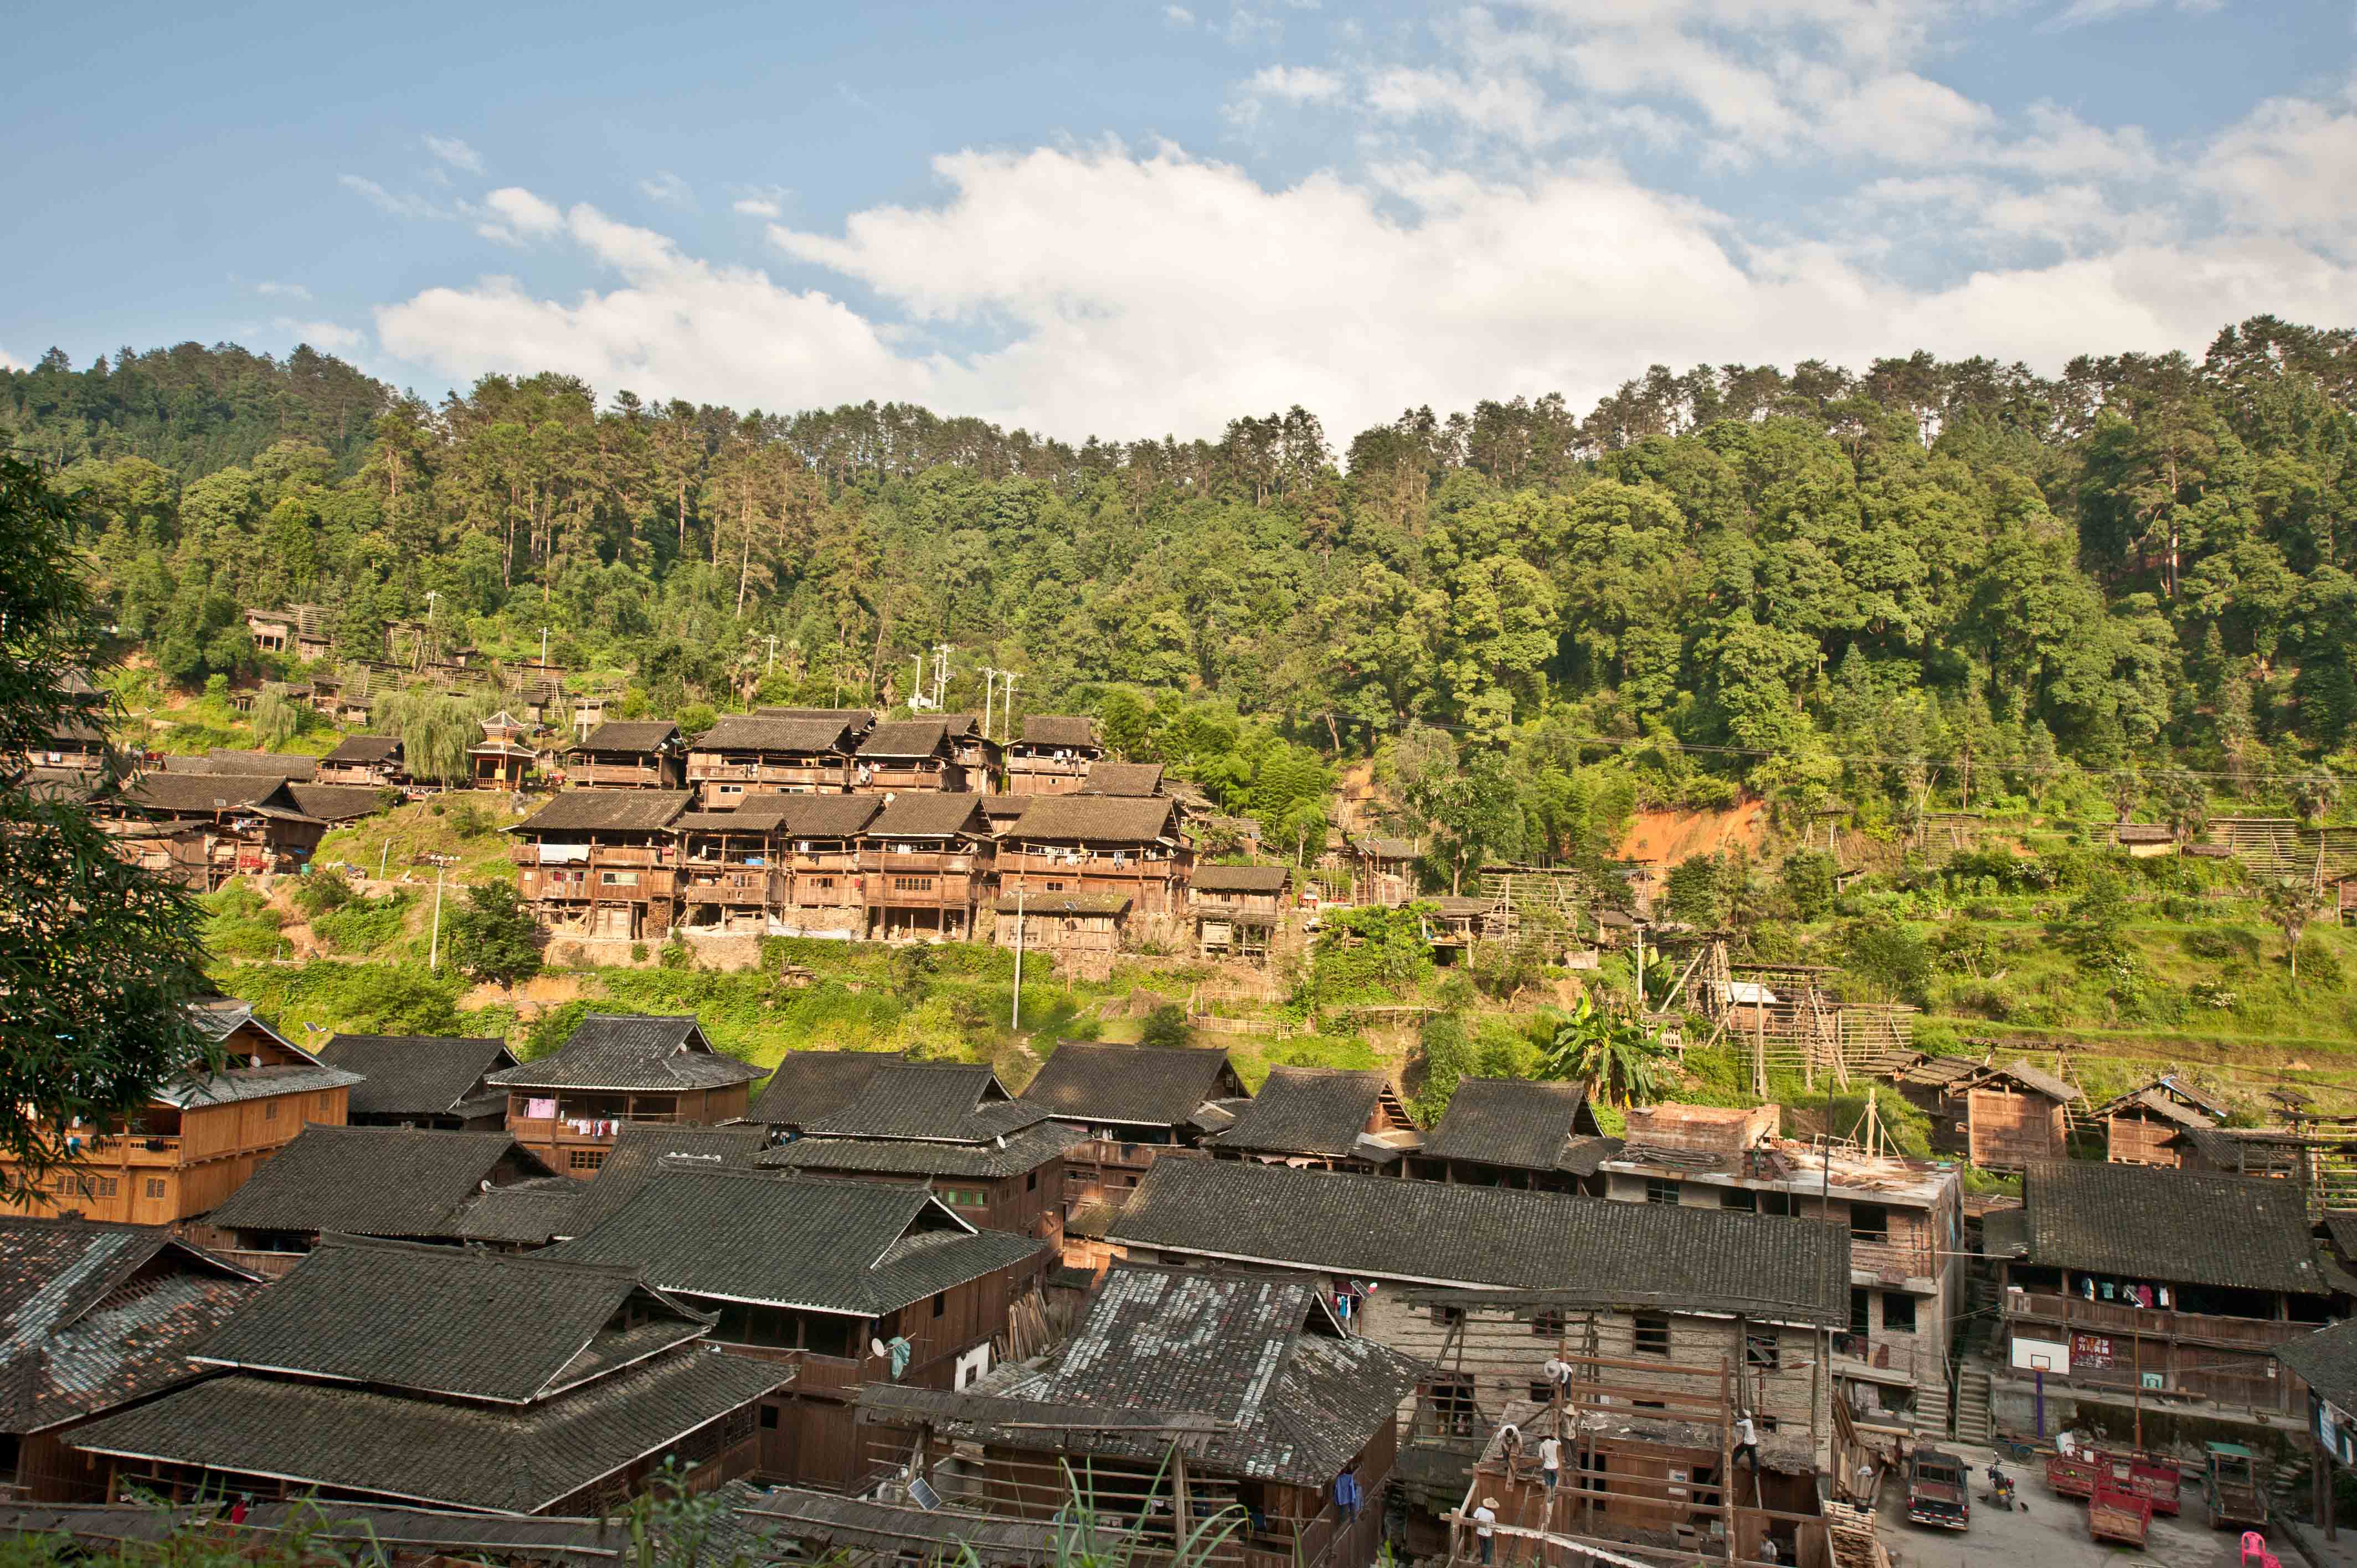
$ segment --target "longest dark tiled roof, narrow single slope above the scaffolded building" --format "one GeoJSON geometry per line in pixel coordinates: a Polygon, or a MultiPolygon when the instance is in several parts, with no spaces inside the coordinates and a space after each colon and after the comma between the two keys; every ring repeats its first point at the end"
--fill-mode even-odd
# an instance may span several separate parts
{"type": "Polygon", "coordinates": [[[1850,1236],[1765,1214],[1155,1160],[1115,1243],[1318,1273],[1846,1323],[1850,1236]]]}

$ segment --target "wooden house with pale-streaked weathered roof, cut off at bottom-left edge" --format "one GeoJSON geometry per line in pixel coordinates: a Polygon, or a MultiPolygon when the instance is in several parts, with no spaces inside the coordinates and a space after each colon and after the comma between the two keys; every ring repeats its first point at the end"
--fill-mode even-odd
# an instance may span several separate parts
{"type": "Polygon", "coordinates": [[[158,1226],[0,1219],[0,1478],[38,1502],[104,1502],[71,1434],[203,1377],[191,1351],[259,1290],[158,1226]]]}

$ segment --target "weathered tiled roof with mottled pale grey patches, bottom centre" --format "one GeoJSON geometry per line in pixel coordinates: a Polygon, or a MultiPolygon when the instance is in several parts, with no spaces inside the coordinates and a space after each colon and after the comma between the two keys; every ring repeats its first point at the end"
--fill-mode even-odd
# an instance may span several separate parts
{"type": "MultiPolygon", "coordinates": [[[[1042,1415],[1075,1405],[1209,1415],[1221,1431],[1190,1448],[1190,1464],[1325,1488],[1421,1372],[1376,1339],[1341,1335],[1310,1280],[1124,1264],[1056,1363],[999,1389],[990,1415],[1002,1419],[1014,1401],[1039,1401],[1042,1415]]],[[[1049,1445],[1021,1429],[995,1436],[1049,1445]]],[[[1164,1452],[1153,1438],[1084,1429],[1058,1431],[1054,1445],[1148,1462],[1164,1452]]]]}

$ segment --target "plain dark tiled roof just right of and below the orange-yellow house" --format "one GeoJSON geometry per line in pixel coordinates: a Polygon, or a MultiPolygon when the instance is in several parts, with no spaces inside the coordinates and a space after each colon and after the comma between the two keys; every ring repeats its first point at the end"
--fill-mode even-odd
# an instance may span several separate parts
{"type": "Polygon", "coordinates": [[[457,1236],[483,1181],[554,1177],[504,1132],[304,1127],[205,1224],[224,1231],[457,1236]]]}

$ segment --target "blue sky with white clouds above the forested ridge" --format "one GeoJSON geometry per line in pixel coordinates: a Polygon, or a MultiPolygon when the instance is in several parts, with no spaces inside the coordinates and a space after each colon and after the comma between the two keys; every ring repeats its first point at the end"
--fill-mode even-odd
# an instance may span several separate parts
{"type": "Polygon", "coordinates": [[[2350,0],[47,7],[0,354],[1216,434],[2357,325],[2350,0]]]}

